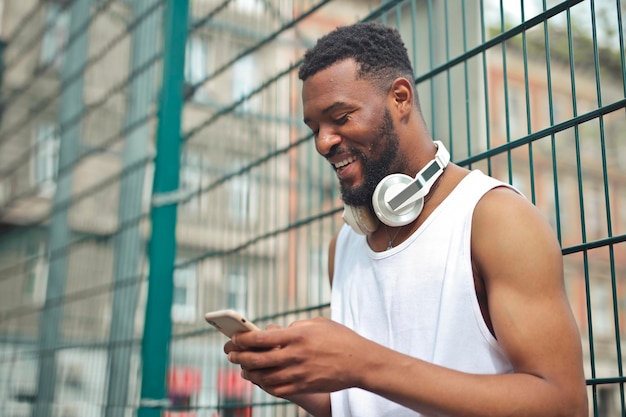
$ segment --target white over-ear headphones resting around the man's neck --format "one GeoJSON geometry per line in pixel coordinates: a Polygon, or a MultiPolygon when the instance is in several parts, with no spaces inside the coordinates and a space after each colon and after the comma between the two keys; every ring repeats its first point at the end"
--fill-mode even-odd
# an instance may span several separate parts
{"type": "Polygon", "coordinates": [[[404,174],[391,174],[383,178],[372,195],[372,206],[377,218],[365,206],[344,206],[343,219],[362,235],[373,233],[379,220],[391,227],[404,226],[417,219],[424,208],[424,197],[450,162],[450,153],[441,141],[435,159],[430,161],[415,178],[404,174]]]}

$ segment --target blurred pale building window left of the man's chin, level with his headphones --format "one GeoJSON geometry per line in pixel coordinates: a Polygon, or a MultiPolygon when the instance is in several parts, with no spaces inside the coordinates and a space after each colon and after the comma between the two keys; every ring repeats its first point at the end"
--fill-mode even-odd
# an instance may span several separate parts
{"type": "Polygon", "coordinates": [[[258,184],[249,175],[235,177],[230,194],[230,217],[234,224],[251,226],[259,216],[258,184]]]}

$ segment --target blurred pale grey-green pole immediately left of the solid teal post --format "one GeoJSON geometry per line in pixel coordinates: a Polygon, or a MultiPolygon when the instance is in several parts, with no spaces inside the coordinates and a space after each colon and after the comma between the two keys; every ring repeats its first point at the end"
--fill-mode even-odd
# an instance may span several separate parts
{"type": "MultiPolygon", "coordinates": [[[[145,67],[158,53],[159,25],[161,9],[155,8],[161,0],[138,0],[131,4],[133,17],[138,19],[149,10],[147,15],[135,26],[132,32],[132,50],[129,73],[134,74],[145,67]]],[[[133,77],[128,89],[128,107],[126,126],[137,124],[138,120],[150,112],[154,101],[157,65],[146,67],[139,76],[133,77]]],[[[137,219],[141,216],[141,197],[139,192],[144,186],[146,171],[145,161],[149,155],[150,126],[142,124],[133,129],[124,141],[122,161],[124,172],[120,180],[120,198],[118,208],[119,224],[123,225],[115,238],[115,292],[108,350],[108,389],[106,417],[123,417],[128,406],[129,378],[132,372],[133,346],[128,341],[133,339],[135,317],[140,283],[140,259],[144,255],[143,241],[137,219]],[[130,282],[130,283],[129,283],[130,282]]]]}

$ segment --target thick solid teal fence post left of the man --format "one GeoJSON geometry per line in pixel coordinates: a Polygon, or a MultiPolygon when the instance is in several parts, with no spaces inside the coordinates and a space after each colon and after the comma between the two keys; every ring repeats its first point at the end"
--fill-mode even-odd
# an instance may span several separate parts
{"type": "Polygon", "coordinates": [[[160,408],[166,403],[177,204],[160,203],[158,197],[178,189],[188,4],[189,0],[166,0],[163,16],[163,72],[150,215],[150,273],[141,347],[139,417],[160,416],[160,408]]]}

